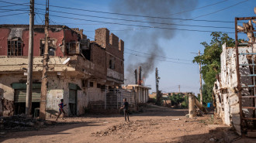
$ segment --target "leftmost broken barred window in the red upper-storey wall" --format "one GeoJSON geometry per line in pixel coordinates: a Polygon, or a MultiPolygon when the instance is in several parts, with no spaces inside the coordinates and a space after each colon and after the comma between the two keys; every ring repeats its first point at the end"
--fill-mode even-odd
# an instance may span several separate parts
{"type": "Polygon", "coordinates": [[[23,56],[22,53],[22,40],[12,39],[8,40],[8,56],[23,56]]]}

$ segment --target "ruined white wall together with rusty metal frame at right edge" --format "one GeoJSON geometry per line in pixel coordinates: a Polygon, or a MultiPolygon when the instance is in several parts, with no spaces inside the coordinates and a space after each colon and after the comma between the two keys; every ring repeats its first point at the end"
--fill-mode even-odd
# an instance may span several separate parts
{"type": "Polygon", "coordinates": [[[213,87],[216,115],[225,124],[232,125],[237,134],[249,137],[255,137],[256,129],[255,19],[235,18],[235,47],[223,45],[221,72],[213,87]],[[241,20],[249,21],[238,26],[237,22],[241,20]],[[246,33],[248,41],[238,41],[238,32],[246,33]]]}

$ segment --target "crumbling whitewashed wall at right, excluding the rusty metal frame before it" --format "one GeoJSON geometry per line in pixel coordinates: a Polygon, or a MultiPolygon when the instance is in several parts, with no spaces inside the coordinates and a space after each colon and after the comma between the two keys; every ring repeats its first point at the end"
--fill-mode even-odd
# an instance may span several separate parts
{"type": "MultiPolygon", "coordinates": [[[[256,46],[256,45],[254,45],[256,46]]],[[[240,46],[239,53],[252,53],[251,46],[240,46]]],[[[240,113],[239,97],[237,89],[237,58],[236,49],[234,47],[226,47],[223,45],[223,52],[221,53],[221,72],[217,76],[217,80],[213,87],[213,99],[215,100],[216,115],[221,117],[224,124],[232,125],[237,134],[241,134],[240,114],[245,117],[250,117],[253,110],[243,108],[240,113]]],[[[240,55],[239,64],[248,65],[250,63],[250,56],[240,55]]],[[[251,74],[249,66],[240,66],[240,74],[251,74]]],[[[251,77],[240,77],[242,86],[251,85],[253,80],[251,77]]],[[[249,96],[248,88],[241,90],[243,96],[249,96]]],[[[247,107],[252,105],[251,98],[243,98],[242,104],[247,107]]]]}

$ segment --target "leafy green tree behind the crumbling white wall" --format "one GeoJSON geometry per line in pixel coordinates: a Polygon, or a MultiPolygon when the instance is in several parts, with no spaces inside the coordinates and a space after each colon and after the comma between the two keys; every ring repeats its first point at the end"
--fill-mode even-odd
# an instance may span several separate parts
{"type": "Polygon", "coordinates": [[[226,33],[212,32],[213,39],[208,44],[201,43],[205,47],[201,56],[195,56],[193,63],[202,64],[202,79],[205,84],[202,85],[202,102],[212,102],[213,85],[216,81],[216,74],[220,73],[220,54],[222,53],[222,45],[226,43],[227,47],[234,47],[235,40],[230,38],[226,33]]]}

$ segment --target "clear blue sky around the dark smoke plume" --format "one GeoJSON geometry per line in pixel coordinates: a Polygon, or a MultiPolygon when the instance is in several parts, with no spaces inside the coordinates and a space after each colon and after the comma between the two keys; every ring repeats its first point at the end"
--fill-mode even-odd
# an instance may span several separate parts
{"type": "MultiPolygon", "coordinates": [[[[37,3],[44,4],[44,0],[35,0],[37,3]]],[[[247,17],[247,16],[256,16],[254,14],[254,7],[256,6],[256,0],[248,0],[244,2],[244,0],[227,0],[226,2],[222,2],[223,0],[199,0],[195,8],[202,7],[204,5],[210,5],[216,2],[221,2],[220,4],[209,6],[204,9],[198,9],[191,12],[188,12],[189,18],[195,18],[199,15],[205,15],[208,13],[212,13],[206,16],[202,16],[198,19],[203,20],[220,20],[220,21],[234,21],[235,17],[247,17]],[[235,5],[239,3],[239,5],[235,5]],[[235,5],[235,6],[232,6],[235,5]],[[231,6],[231,7],[230,7],[231,6]],[[223,9],[223,10],[221,10],[223,9]],[[220,12],[218,12],[220,11],[220,12]],[[213,13],[214,12],[214,13],[213,13]]],[[[15,2],[15,3],[25,3],[29,2],[29,0],[12,0],[8,2],[15,2]]],[[[190,5],[189,0],[184,1],[187,3],[186,5],[190,5]]],[[[0,6],[10,5],[3,2],[0,2],[0,6]]],[[[57,5],[57,6],[64,6],[76,9],[89,9],[95,11],[102,11],[102,12],[112,12],[112,1],[108,0],[50,0],[50,5],[57,5]]],[[[120,5],[120,9],[122,9],[120,5]]],[[[12,7],[5,7],[1,9],[23,9],[26,8],[24,6],[12,6],[12,7]]],[[[36,5],[36,12],[43,13],[45,9],[43,5],[36,5]]],[[[19,11],[15,12],[1,12],[4,10],[0,9],[0,24],[28,24],[29,23],[29,15],[28,14],[21,14],[19,11]],[[10,15],[2,17],[1,15],[10,15]]],[[[27,9],[29,9],[27,7],[27,9]]],[[[97,15],[97,16],[108,16],[112,18],[123,18],[123,19],[130,19],[127,17],[121,17],[116,15],[108,15],[102,13],[95,13],[95,12],[81,12],[74,9],[60,9],[60,8],[52,8],[50,10],[57,10],[63,12],[74,12],[80,13],[83,15],[97,15]]],[[[180,9],[179,12],[183,12],[187,9],[180,9]]],[[[178,11],[177,11],[178,12],[178,11]]],[[[96,20],[96,21],[105,21],[105,22],[117,22],[116,20],[110,19],[99,19],[99,18],[92,18],[92,17],[81,17],[79,15],[67,15],[64,13],[54,13],[50,12],[50,15],[62,15],[68,16],[72,18],[80,18],[80,19],[89,19],[89,20],[96,20]]],[[[129,13],[127,13],[129,14],[129,13]]],[[[164,15],[158,14],[158,15],[164,15]]],[[[155,16],[155,15],[153,15],[155,16]]],[[[173,15],[171,18],[178,18],[179,15],[173,15]]],[[[36,22],[35,24],[42,24],[43,15],[36,15],[36,22]]],[[[185,21],[177,23],[182,24],[189,24],[189,25],[200,25],[200,26],[226,26],[234,28],[234,23],[223,23],[223,22],[192,22],[192,21],[185,21]]],[[[125,42],[125,49],[134,49],[131,43],[133,40],[126,39],[127,34],[128,36],[133,36],[133,32],[126,32],[126,31],[111,31],[111,30],[120,30],[120,29],[136,29],[139,30],[137,27],[133,26],[117,26],[111,24],[102,24],[99,22],[88,22],[88,21],[79,21],[75,19],[63,19],[63,18],[56,18],[54,16],[50,16],[50,24],[61,24],[67,25],[71,28],[78,27],[80,29],[84,29],[84,34],[88,36],[89,39],[94,40],[94,30],[102,27],[106,27],[113,32],[116,36],[119,36],[119,39],[123,39],[125,42]]],[[[144,25],[143,23],[136,23],[137,25],[144,25]]],[[[234,29],[213,29],[213,28],[192,28],[186,26],[178,26],[177,28],[180,29],[198,29],[198,30],[208,30],[208,31],[222,31],[222,32],[234,32],[234,29]]],[[[147,32],[159,29],[144,29],[147,32]]],[[[207,43],[210,42],[210,32],[190,32],[190,31],[178,31],[178,30],[169,30],[170,32],[175,32],[175,36],[172,39],[160,39],[158,43],[163,47],[164,56],[168,56],[170,58],[175,59],[183,59],[183,60],[190,60],[190,61],[180,61],[180,60],[171,60],[175,62],[182,62],[182,63],[190,63],[190,64],[181,64],[181,63],[171,63],[167,61],[158,61],[157,68],[159,70],[159,76],[161,77],[160,80],[160,90],[164,92],[175,92],[178,91],[178,85],[181,85],[181,91],[183,92],[194,92],[199,93],[199,66],[197,64],[192,64],[193,57],[195,56],[194,53],[198,53],[199,49],[203,53],[204,47],[200,45],[200,43],[206,41],[207,43]]],[[[144,32],[141,30],[141,32],[144,32]]],[[[134,32],[136,33],[136,32],[134,32]]],[[[230,37],[234,38],[234,34],[229,34],[230,37]]],[[[147,47],[147,41],[142,41],[145,43],[145,47],[147,47]]],[[[138,49],[144,53],[150,53],[147,48],[145,49],[138,49]]],[[[127,51],[127,50],[125,50],[127,51]]],[[[129,51],[128,51],[129,52],[129,51]]],[[[138,53],[138,55],[147,56],[143,53],[138,53]]],[[[125,53],[125,67],[127,68],[128,63],[136,61],[144,61],[144,57],[130,55],[125,53]],[[132,60],[130,60],[132,59],[132,60]]],[[[159,59],[160,60],[160,59],[159,59]]],[[[163,59],[161,59],[163,60],[163,59]]],[[[168,60],[168,59],[165,59],[168,60]]],[[[170,61],[170,60],[168,60],[170,61]]],[[[128,67],[129,68],[129,67],[128,67]]],[[[125,71],[126,73],[126,71],[125,71]]],[[[127,78],[127,77],[125,77],[127,78]]],[[[155,90],[155,79],[154,79],[154,71],[150,73],[149,77],[146,80],[146,84],[150,84],[152,87],[151,91],[155,90]]]]}

